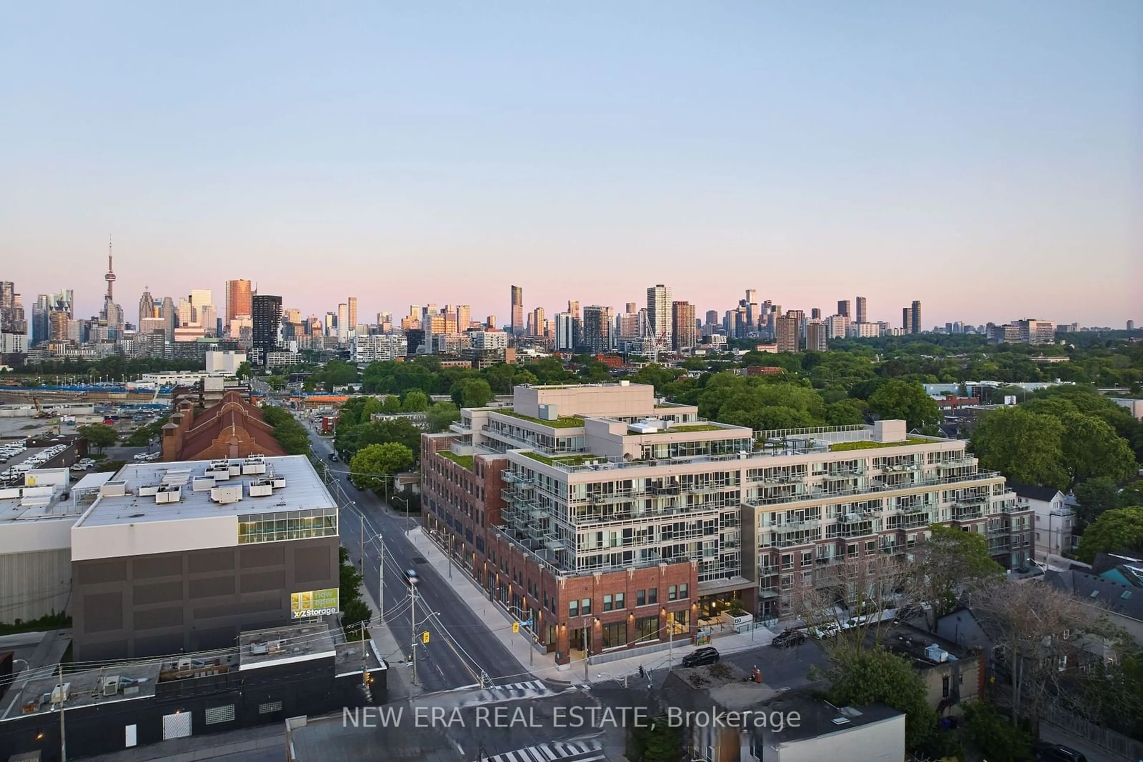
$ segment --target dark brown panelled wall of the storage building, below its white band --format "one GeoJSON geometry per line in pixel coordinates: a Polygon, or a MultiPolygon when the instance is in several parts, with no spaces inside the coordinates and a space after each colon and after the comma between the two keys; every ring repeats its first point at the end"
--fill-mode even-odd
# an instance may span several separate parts
{"type": "Polygon", "coordinates": [[[226,648],[290,618],[290,593],[337,587],[337,537],[75,561],[77,660],[226,648]]]}

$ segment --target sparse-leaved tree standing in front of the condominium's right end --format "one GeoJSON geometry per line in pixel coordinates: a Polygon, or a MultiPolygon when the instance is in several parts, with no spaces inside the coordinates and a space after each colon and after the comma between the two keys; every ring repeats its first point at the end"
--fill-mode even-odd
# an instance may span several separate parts
{"type": "Polygon", "coordinates": [[[937,619],[957,608],[962,594],[1004,578],[1004,569],[989,555],[988,540],[977,532],[933,524],[913,558],[906,589],[929,607],[925,624],[930,632],[936,632],[937,619]]]}

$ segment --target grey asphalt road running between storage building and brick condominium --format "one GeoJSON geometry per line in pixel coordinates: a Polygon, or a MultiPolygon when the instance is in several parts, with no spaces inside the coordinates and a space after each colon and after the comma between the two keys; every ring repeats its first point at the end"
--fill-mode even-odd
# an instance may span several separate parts
{"type": "MultiPolygon", "coordinates": [[[[326,458],[333,451],[331,442],[321,439],[312,428],[310,439],[314,451],[326,458]]],[[[361,491],[350,484],[344,463],[328,463],[334,478],[330,490],[342,506],[339,531],[342,545],[354,562],[361,556],[362,516],[365,524],[365,585],[377,600],[381,535],[385,546],[384,617],[399,643],[409,643],[402,655],[383,655],[391,664],[411,650],[414,629],[413,605],[406,570],[416,569],[421,581],[416,591],[416,651],[417,681],[425,691],[447,690],[478,684],[481,675],[486,684],[507,684],[531,680],[515,658],[491,634],[487,625],[472,612],[456,592],[443,581],[447,569],[435,569],[424,562],[405,531],[416,526],[402,514],[390,511],[371,491],[361,491]],[[419,561],[419,562],[418,562],[419,561]],[[429,643],[421,642],[419,633],[429,632],[429,643]]],[[[464,573],[454,570],[453,573],[464,573]]],[[[505,623],[505,626],[506,623],[505,623]]]]}

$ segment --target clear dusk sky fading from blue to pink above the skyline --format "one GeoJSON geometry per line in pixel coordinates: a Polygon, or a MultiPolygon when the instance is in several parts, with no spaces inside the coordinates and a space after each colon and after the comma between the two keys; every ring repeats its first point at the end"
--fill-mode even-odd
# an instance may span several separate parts
{"type": "Polygon", "coordinates": [[[1143,2],[9,2],[0,280],[1143,322],[1143,2]]]}

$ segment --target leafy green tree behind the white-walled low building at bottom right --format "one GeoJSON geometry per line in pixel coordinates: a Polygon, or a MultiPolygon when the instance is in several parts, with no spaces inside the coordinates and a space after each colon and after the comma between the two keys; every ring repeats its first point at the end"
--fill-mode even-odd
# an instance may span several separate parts
{"type": "Polygon", "coordinates": [[[905,713],[905,746],[916,749],[936,729],[928,688],[904,657],[881,648],[836,648],[826,653],[830,703],[836,706],[885,704],[905,713]]]}

